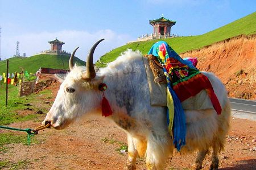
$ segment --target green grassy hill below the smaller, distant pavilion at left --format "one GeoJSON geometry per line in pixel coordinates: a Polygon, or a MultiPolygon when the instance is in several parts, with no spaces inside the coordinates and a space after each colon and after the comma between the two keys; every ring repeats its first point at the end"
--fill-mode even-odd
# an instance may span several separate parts
{"type": "MultiPolygon", "coordinates": [[[[28,73],[35,73],[40,67],[69,69],[69,56],[61,55],[35,55],[31,57],[12,57],[9,59],[9,73],[20,71],[19,67],[24,68],[28,73]]],[[[74,57],[74,63],[85,65],[85,61],[74,57]]],[[[0,74],[6,72],[6,60],[0,61],[0,74]]]]}

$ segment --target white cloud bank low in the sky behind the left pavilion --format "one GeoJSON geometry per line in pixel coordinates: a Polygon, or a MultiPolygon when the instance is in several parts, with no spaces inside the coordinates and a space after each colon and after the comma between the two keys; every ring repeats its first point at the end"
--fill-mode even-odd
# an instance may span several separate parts
{"type": "Polygon", "coordinates": [[[26,52],[26,56],[32,56],[40,51],[50,48],[48,41],[59,39],[65,44],[63,50],[72,52],[77,46],[80,48],[76,52],[76,56],[81,60],[86,60],[88,51],[92,45],[102,38],[96,51],[94,52],[94,61],[97,61],[106,52],[111,51],[121,45],[126,44],[131,36],[126,34],[117,34],[112,30],[99,30],[97,32],[77,31],[77,30],[63,30],[59,32],[40,32],[39,34],[30,33],[18,36],[1,37],[1,56],[2,59],[12,57],[16,53],[16,42],[19,41],[19,53],[22,56],[26,52]]]}

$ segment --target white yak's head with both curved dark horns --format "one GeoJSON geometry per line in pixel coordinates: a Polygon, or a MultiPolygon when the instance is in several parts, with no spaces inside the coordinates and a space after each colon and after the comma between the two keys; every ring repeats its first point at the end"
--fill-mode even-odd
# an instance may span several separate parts
{"type": "Polygon", "coordinates": [[[87,57],[86,68],[73,65],[73,51],[69,59],[69,69],[51,109],[48,111],[43,125],[49,123],[51,127],[62,129],[80,118],[85,113],[97,113],[101,110],[101,93],[98,85],[102,76],[96,76],[93,66],[93,53],[97,45],[104,39],[96,42],[90,49],[87,57]]]}

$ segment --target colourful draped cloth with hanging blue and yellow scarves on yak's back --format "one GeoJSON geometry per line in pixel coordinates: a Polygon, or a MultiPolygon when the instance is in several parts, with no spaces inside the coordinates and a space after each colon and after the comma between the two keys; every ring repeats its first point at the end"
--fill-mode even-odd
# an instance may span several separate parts
{"type": "Polygon", "coordinates": [[[150,54],[157,57],[163,65],[168,88],[168,130],[174,138],[175,147],[180,151],[181,146],[185,145],[186,136],[185,114],[181,102],[205,89],[217,114],[221,114],[221,106],[208,78],[190,60],[183,60],[177,55],[166,42],[156,42],[148,52],[150,54]]]}

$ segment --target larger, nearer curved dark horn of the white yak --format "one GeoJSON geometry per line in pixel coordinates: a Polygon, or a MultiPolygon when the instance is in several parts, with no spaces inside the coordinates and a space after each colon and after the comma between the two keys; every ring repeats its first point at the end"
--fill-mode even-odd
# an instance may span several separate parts
{"type": "Polygon", "coordinates": [[[104,39],[98,40],[98,42],[96,42],[92,48],[90,48],[90,51],[88,53],[87,56],[87,61],[86,61],[86,72],[85,74],[82,75],[82,78],[86,79],[86,80],[90,80],[92,78],[94,78],[96,76],[96,72],[94,69],[94,65],[93,65],[93,53],[95,48],[97,47],[98,44],[100,44],[100,42],[102,42],[104,39]]]}

